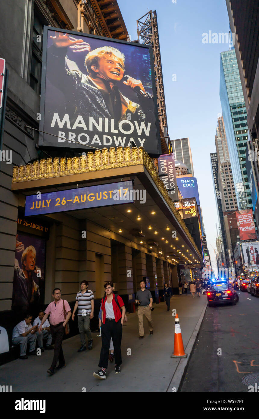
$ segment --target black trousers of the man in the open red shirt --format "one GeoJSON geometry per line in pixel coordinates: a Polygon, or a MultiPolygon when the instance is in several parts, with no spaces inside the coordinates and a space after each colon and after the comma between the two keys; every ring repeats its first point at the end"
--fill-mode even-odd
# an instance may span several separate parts
{"type": "Polygon", "coordinates": [[[105,323],[101,326],[102,335],[102,349],[100,353],[100,368],[108,368],[110,338],[113,339],[115,365],[121,365],[121,338],[122,338],[122,324],[121,320],[117,323],[115,320],[105,319],[105,323]]]}

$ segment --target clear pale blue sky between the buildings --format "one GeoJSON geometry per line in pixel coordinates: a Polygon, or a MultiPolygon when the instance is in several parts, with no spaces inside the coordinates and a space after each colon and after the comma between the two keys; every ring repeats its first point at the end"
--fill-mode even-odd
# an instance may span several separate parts
{"type": "Polygon", "coordinates": [[[215,152],[217,116],[221,114],[220,53],[229,45],[204,44],[202,40],[209,31],[229,31],[226,1],[118,0],[118,5],[132,40],[137,39],[136,20],[148,10],[156,10],[169,136],[171,140],[190,139],[207,243],[215,265],[218,216],[210,153],[215,152]],[[174,74],[176,81],[172,81],[174,74]]]}

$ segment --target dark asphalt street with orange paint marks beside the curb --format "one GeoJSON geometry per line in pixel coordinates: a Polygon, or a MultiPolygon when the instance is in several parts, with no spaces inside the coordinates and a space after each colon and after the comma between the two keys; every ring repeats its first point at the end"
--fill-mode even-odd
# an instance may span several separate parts
{"type": "Polygon", "coordinates": [[[207,307],[182,392],[259,388],[259,298],[241,291],[238,296],[234,306],[207,307]]]}

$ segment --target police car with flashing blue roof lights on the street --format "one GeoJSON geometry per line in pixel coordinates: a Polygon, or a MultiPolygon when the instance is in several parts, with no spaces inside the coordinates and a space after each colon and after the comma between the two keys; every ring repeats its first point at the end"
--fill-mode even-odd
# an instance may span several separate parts
{"type": "Polygon", "coordinates": [[[237,292],[228,281],[214,281],[208,290],[207,299],[209,307],[226,303],[236,305],[239,301],[237,292]]]}

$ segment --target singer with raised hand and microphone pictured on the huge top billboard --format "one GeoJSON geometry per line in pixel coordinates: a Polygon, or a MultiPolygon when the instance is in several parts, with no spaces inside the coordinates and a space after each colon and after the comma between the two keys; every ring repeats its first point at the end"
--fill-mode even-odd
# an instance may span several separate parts
{"type": "Polygon", "coordinates": [[[66,106],[73,106],[74,114],[82,115],[83,118],[91,115],[96,121],[98,118],[107,118],[109,125],[110,119],[113,119],[115,126],[124,119],[150,121],[153,98],[146,93],[141,80],[124,75],[124,54],[110,46],[91,51],[90,45],[82,39],[72,40],[71,36],[60,32],[55,32],[55,36],[51,38],[53,44],[48,49],[47,77],[54,86],[63,91],[66,106]],[[89,51],[85,57],[88,75],[67,59],[68,47],[74,48],[73,52],[89,51]],[[119,91],[117,83],[123,77],[123,83],[137,93],[140,104],[126,98],[119,91]],[[71,103],[71,98],[74,103],[71,103]]]}

